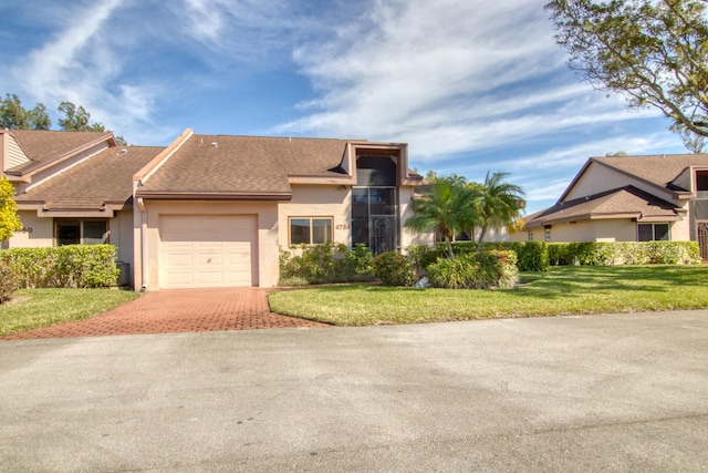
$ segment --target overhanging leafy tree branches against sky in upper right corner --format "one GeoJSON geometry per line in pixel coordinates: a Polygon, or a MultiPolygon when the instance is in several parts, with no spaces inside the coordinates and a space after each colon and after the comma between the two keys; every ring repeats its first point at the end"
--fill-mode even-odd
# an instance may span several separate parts
{"type": "Polygon", "coordinates": [[[551,0],[569,65],[631,107],[653,106],[676,130],[708,136],[708,20],[701,0],[551,0]]]}

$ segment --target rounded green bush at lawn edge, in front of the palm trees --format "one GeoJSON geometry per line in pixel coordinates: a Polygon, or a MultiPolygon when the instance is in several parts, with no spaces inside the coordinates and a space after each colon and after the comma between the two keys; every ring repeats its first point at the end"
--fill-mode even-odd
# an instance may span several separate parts
{"type": "Polygon", "coordinates": [[[480,251],[439,258],[428,266],[434,287],[448,289],[509,289],[517,282],[517,255],[513,251],[480,251]]]}

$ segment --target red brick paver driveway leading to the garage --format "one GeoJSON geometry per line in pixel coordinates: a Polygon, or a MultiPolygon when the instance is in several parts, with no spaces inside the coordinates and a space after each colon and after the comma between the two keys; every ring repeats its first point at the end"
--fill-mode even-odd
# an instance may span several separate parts
{"type": "Polygon", "coordinates": [[[88,320],[31,330],[0,340],[329,327],[272,313],[267,296],[266,289],[253,287],[162,290],[148,292],[88,320]]]}

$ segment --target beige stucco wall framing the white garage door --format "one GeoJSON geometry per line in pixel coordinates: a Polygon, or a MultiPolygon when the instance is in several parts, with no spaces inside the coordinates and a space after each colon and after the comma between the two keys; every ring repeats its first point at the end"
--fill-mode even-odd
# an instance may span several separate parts
{"type": "Polygon", "coordinates": [[[159,285],[159,217],[160,215],[256,215],[258,222],[257,280],[260,287],[278,285],[278,205],[274,203],[175,202],[145,200],[145,213],[136,210],[134,218],[134,287],[158,290],[159,285]],[[145,217],[145,261],[142,259],[142,218],[145,217]],[[146,280],[143,278],[145,264],[146,280]]]}

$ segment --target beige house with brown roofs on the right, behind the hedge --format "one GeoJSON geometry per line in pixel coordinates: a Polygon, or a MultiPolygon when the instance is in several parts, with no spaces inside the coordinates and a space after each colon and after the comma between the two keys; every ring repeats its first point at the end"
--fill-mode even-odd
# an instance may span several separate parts
{"type": "Polygon", "coordinates": [[[511,240],[698,241],[708,258],[708,154],[591,157],[511,240]]]}

